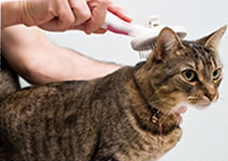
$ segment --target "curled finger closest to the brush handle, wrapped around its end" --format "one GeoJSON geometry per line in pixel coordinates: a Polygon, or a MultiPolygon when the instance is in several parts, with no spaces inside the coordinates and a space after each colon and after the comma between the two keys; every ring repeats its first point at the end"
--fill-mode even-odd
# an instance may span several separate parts
{"type": "Polygon", "coordinates": [[[106,0],[99,0],[88,4],[92,10],[92,16],[85,24],[85,32],[91,34],[92,32],[97,31],[104,23],[107,12],[107,2],[106,0]]]}

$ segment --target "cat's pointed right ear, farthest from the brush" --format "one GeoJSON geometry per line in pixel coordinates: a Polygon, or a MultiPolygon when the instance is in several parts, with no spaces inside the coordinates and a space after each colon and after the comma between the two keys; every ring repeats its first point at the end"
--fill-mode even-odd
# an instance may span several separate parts
{"type": "Polygon", "coordinates": [[[219,41],[221,40],[222,36],[224,35],[226,31],[227,26],[224,26],[217,31],[213,32],[209,36],[206,36],[198,41],[196,43],[202,44],[207,48],[210,48],[212,50],[217,50],[219,41]]]}

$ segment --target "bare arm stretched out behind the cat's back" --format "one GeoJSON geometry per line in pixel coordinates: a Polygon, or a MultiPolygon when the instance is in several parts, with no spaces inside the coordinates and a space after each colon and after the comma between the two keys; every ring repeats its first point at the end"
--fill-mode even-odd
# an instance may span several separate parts
{"type": "Polygon", "coordinates": [[[32,84],[90,80],[120,68],[57,47],[41,31],[22,25],[2,31],[2,50],[13,69],[32,84]]]}

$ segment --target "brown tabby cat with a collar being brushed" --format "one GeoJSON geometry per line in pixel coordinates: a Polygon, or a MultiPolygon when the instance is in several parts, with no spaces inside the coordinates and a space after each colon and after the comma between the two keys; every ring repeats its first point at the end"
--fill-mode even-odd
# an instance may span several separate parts
{"type": "Polygon", "coordinates": [[[1,100],[1,160],[155,161],[182,130],[176,110],[218,99],[217,46],[164,28],[146,61],[91,81],[25,88],[1,100]]]}

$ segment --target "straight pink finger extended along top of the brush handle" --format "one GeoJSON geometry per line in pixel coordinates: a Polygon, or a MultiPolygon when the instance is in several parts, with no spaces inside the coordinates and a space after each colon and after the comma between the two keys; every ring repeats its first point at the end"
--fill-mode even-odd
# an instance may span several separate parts
{"type": "Polygon", "coordinates": [[[113,1],[110,1],[108,4],[108,11],[112,12],[124,21],[132,22],[132,17],[121,6],[113,1]]]}

